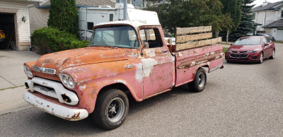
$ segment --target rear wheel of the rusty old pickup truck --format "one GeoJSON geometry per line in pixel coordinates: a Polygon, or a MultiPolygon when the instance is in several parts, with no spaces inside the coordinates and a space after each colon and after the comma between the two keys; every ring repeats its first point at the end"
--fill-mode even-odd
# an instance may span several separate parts
{"type": "Polygon", "coordinates": [[[207,85],[207,74],[205,73],[204,68],[199,68],[195,74],[194,81],[187,83],[187,85],[189,85],[189,88],[196,93],[202,92],[205,85],[207,85]]]}

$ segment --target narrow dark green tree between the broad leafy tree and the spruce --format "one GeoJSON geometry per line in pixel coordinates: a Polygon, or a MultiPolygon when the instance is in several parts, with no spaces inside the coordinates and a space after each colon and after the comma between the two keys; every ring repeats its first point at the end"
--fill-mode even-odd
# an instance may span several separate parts
{"type": "Polygon", "coordinates": [[[224,30],[226,32],[221,33],[222,36],[225,36],[226,34],[226,42],[228,42],[229,34],[233,31],[236,31],[238,25],[240,25],[241,23],[243,4],[242,4],[242,0],[220,0],[220,1],[223,5],[222,13],[226,14],[227,16],[231,16],[231,19],[233,21],[233,27],[230,29],[225,28],[224,30]]]}

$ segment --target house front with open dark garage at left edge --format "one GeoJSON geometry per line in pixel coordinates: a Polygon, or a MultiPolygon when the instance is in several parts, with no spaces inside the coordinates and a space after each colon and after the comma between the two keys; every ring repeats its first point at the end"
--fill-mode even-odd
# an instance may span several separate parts
{"type": "Polygon", "coordinates": [[[0,49],[10,45],[17,51],[30,49],[30,21],[28,5],[44,0],[0,0],[0,30],[6,34],[5,42],[0,49]]]}

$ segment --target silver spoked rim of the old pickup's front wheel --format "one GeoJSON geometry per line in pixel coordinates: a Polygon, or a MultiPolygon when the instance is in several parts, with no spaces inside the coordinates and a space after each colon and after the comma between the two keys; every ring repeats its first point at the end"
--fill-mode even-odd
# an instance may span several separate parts
{"type": "Polygon", "coordinates": [[[108,120],[112,123],[119,121],[125,112],[125,103],[120,97],[115,97],[108,105],[108,120]]]}

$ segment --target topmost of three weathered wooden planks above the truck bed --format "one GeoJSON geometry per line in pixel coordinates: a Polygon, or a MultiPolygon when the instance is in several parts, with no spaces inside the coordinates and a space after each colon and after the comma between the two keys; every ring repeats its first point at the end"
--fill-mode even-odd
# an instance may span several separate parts
{"type": "Polygon", "coordinates": [[[212,31],[212,26],[176,28],[176,35],[190,34],[190,33],[196,33],[196,32],[209,32],[209,31],[212,31]]]}

